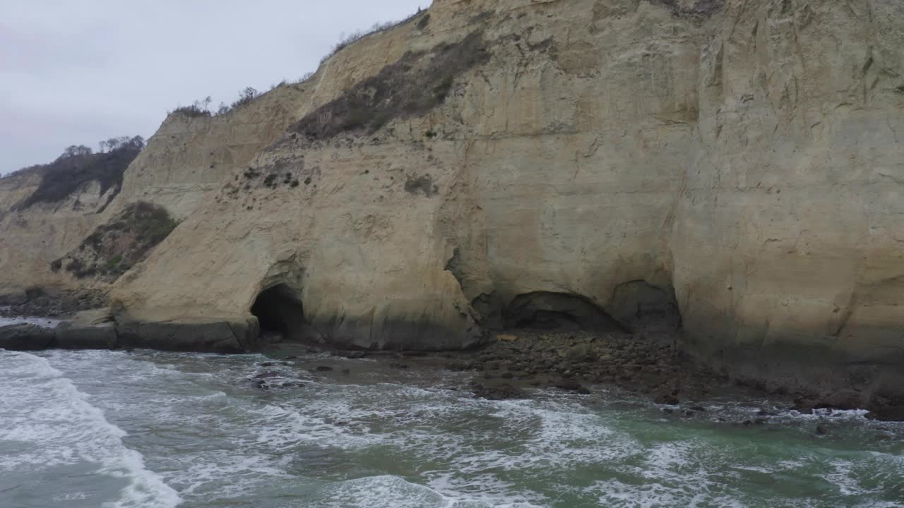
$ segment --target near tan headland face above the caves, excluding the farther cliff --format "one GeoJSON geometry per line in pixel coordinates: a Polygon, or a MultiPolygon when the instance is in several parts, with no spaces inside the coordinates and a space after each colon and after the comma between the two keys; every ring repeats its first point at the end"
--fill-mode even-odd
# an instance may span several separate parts
{"type": "Polygon", "coordinates": [[[468,343],[484,317],[471,304],[491,295],[498,308],[572,294],[618,314],[638,281],[674,288],[711,361],[776,340],[879,353],[899,326],[900,9],[438,2],[426,27],[369,37],[315,81],[340,98],[379,77],[355,65],[367,55],[416,72],[428,62],[404,52],[479,30],[490,57],[441,106],[287,133],[166,242],[204,262],[173,269],[162,250],[117,295],[139,316],[240,315],[288,265],[325,336],[382,347],[398,322],[468,343]]]}

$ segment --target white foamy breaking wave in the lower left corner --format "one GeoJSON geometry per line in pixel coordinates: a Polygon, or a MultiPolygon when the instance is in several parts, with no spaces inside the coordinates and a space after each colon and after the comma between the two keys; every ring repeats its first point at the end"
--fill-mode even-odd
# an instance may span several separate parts
{"type": "MultiPolygon", "coordinates": [[[[6,454],[0,471],[41,471],[52,466],[88,462],[98,473],[125,479],[118,502],[110,508],[170,508],[179,495],[159,475],[149,471],[143,457],[125,447],[121,428],[108,422],[69,379],[47,360],[27,353],[0,351],[0,440],[30,451],[6,454]],[[12,394],[13,396],[10,396],[12,394]]],[[[62,494],[79,496],[80,493],[62,494]]]]}

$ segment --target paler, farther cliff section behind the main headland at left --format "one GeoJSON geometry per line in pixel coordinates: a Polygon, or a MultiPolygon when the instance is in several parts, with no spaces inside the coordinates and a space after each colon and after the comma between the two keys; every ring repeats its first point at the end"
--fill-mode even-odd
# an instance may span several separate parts
{"type": "Polygon", "coordinates": [[[298,98],[297,89],[284,87],[221,117],[170,115],[129,166],[118,193],[101,193],[92,181],[60,202],[23,209],[17,205],[38,188],[41,174],[0,179],[0,296],[15,302],[32,287],[52,294],[107,290],[108,281],[74,278],[67,270],[54,271],[52,262],[77,251],[92,232],[137,202],[163,206],[179,220],[190,215],[285,130],[296,118],[298,98]]]}

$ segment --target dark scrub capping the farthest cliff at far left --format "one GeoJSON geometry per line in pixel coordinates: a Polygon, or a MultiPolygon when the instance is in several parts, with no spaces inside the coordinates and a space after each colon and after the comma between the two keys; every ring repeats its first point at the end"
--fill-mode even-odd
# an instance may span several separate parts
{"type": "MultiPolygon", "coordinates": [[[[61,202],[85,183],[96,181],[100,193],[114,189],[107,198],[109,203],[122,188],[122,175],[128,165],[141,153],[145,140],[141,136],[114,137],[100,142],[101,152],[93,153],[88,146],[70,146],[48,165],[36,165],[23,171],[42,174],[41,184],[31,196],[17,205],[24,210],[39,202],[61,202]]],[[[105,205],[106,206],[106,205],[105,205]]]]}

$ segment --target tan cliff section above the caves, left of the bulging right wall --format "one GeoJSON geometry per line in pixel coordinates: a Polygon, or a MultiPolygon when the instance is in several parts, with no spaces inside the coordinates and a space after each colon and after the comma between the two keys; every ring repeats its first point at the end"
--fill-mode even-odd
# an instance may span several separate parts
{"type": "Polygon", "coordinates": [[[414,21],[338,53],[315,77],[334,90],[325,99],[349,88],[329,76],[359,71],[357,51],[438,58],[433,49],[479,30],[491,59],[457,76],[441,107],[372,136],[287,134],[251,166],[305,183],[272,189],[236,174],[121,281],[124,312],[238,316],[286,283],[333,341],[453,347],[476,340],[481,296],[505,306],[550,292],[606,307],[630,281],[667,287],[702,21],[642,3],[588,25],[595,8],[440,3],[423,29],[414,21]],[[650,65],[659,77],[638,82],[650,65]],[[167,251],[203,262],[174,264],[167,251]]]}

